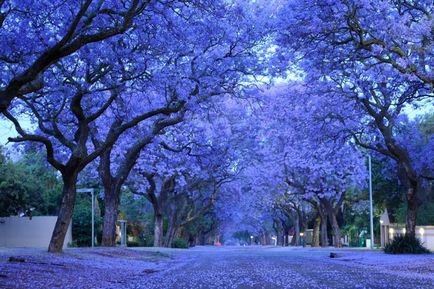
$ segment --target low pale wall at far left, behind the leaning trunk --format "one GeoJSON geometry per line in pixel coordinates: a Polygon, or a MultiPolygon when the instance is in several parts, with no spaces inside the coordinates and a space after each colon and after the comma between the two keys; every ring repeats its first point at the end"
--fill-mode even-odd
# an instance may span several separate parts
{"type": "MultiPolygon", "coordinates": [[[[48,248],[56,216],[0,218],[0,247],[48,248]]],[[[71,224],[63,247],[72,242],[71,224]]]]}

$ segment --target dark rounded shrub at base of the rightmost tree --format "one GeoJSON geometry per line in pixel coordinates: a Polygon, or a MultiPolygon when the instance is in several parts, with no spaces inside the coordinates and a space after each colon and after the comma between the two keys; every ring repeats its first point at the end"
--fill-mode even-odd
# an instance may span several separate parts
{"type": "Polygon", "coordinates": [[[410,235],[396,236],[392,243],[384,247],[386,254],[427,254],[428,249],[422,246],[420,240],[410,235]]]}

